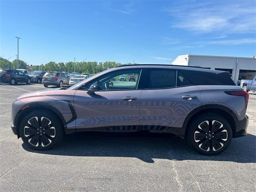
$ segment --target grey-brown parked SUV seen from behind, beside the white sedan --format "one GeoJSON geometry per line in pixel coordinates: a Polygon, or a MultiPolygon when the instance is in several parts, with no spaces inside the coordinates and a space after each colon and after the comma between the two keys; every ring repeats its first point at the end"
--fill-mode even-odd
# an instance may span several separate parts
{"type": "Polygon", "coordinates": [[[46,72],[43,76],[44,87],[49,85],[55,85],[62,87],[63,85],[69,85],[70,76],[64,72],[46,72]]]}

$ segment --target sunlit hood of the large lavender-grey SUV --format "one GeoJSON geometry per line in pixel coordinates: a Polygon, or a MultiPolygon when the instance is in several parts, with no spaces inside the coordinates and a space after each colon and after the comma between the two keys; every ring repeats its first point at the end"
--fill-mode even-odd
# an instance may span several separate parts
{"type": "Polygon", "coordinates": [[[60,88],[29,92],[20,95],[17,100],[22,102],[51,102],[53,100],[73,100],[75,90],[61,90],[60,88]]]}

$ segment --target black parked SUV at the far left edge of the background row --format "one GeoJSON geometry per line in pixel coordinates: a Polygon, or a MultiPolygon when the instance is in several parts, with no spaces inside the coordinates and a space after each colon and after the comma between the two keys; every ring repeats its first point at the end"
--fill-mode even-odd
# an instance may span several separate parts
{"type": "Polygon", "coordinates": [[[11,85],[17,83],[30,84],[30,76],[24,74],[19,70],[14,69],[0,69],[0,83],[10,83],[11,85]]]}

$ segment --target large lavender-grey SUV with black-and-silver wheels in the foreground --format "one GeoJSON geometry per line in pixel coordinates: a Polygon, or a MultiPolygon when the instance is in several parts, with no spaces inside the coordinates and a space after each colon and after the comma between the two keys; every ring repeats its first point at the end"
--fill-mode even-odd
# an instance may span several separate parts
{"type": "Polygon", "coordinates": [[[82,131],[171,133],[214,155],[247,134],[248,93],[229,72],[167,65],[128,65],[68,89],[23,94],[12,104],[14,134],[36,150],[82,131]],[[112,81],[121,75],[136,82],[112,81]]]}

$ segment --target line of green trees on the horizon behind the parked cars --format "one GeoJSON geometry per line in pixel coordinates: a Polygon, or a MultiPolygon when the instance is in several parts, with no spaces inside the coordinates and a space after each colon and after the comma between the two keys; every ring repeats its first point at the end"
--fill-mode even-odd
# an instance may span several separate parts
{"type": "MultiPolygon", "coordinates": [[[[126,63],[132,64],[132,63],[126,63]]],[[[54,61],[48,62],[46,64],[41,65],[28,65],[26,62],[19,60],[19,68],[20,69],[29,69],[32,68],[33,70],[45,70],[45,71],[65,71],[65,72],[78,72],[78,73],[90,73],[90,74],[97,74],[102,72],[106,69],[113,68],[116,66],[122,65],[119,62],[96,62],[96,61],[87,61],[87,62],[59,62],[56,63],[54,61]]],[[[0,58],[0,68],[8,69],[13,68],[16,69],[17,60],[13,60],[12,62],[8,61],[7,59],[0,58]]]]}

